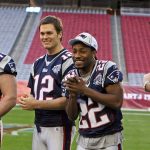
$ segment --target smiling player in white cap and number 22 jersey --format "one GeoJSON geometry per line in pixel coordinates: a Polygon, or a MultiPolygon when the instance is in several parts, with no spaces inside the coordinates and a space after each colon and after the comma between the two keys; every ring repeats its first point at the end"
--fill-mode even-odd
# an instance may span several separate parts
{"type": "Polygon", "coordinates": [[[121,150],[123,75],[114,62],[96,60],[98,44],[91,34],[83,32],[69,43],[76,69],[66,75],[63,91],[69,119],[79,115],[77,149],[121,150]]]}

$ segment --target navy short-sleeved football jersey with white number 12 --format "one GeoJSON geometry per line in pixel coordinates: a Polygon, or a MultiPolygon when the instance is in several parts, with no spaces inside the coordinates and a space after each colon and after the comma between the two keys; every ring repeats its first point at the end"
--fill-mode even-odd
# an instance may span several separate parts
{"type": "MultiPolygon", "coordinates": [[[[71,53],[63,49],[56,55],[44,55],[32,66],[28,87],[36,100],[54,100],[62,97],[61,82],[73,68],[71,53]]],[[[43,127],[70,124],[65,110],[35,110],[35,124],[43,127]]]]}

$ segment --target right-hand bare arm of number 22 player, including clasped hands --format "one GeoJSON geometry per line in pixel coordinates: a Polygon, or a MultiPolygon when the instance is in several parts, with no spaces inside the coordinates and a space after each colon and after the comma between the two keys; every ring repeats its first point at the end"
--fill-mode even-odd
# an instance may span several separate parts
{"type": "Polygon", "coordinates": [[[118,109],[122,106],[123,103],[123,89],[120,83],[108,85],[105,93],[97,92],[91,88],[85,86],[84,81],[75,77],[77,82],[66,81],[66,87],[69,91],[80,93],[90,97],[92,100],[106,105],[113,109],[118,109]]]}

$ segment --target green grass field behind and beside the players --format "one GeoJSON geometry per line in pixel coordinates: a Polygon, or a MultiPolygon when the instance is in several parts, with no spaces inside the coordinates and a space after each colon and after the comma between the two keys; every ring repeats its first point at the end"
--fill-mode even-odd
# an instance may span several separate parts
{"type": "MultiPolygon", "coordinates": [[[[150,150],[150,112],[123,111],[124,150],[150,150]]],[[[33,111],[13,109],[4,118],[2,150],[31,150],[33,111]]],[[[76,144],[73,142],[72,150],[76,144]]]]}

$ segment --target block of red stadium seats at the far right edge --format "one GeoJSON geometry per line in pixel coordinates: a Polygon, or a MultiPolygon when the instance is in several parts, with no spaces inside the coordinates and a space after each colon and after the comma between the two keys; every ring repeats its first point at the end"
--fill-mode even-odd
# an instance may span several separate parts
{"type": "Polygon", "coordinates": [[[149,72],[150,17],[122,16],[121,23],[127,72],[149,72]]]}

